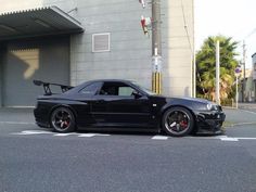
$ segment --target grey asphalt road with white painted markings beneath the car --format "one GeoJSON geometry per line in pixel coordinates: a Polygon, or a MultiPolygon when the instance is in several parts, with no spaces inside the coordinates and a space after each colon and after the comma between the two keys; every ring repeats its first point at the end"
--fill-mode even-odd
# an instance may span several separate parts
{"type": "Polygon", "coordinates": [[[256,126],[246,119],[220,137],[59,135],[29,110],[1,111],[0,192],[255,192],[256,126]]]}

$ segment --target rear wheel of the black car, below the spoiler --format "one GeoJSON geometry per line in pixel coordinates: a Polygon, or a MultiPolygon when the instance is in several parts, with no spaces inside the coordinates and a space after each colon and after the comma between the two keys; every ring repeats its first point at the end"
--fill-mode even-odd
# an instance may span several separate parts
{"type": "Polygon", "coordinates": [[[56,132],[75,131],[75,116],[67,107],[59,107],[52,112],[51,125],[56,132]]]}

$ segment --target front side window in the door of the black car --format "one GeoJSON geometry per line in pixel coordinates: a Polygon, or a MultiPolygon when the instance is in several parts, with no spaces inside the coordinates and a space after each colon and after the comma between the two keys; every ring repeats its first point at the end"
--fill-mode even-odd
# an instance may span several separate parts
{"type": "Polygon", "coordinates": [[[132,92],[137,92],[133,88],[126,84],[105,82],[100,90],[100,94],[130,97],[132,92]]]}

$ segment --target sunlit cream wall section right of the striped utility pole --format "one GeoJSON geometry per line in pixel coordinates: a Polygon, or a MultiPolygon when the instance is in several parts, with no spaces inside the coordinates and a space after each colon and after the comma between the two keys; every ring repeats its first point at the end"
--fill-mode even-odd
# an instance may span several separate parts
{"type": "Polygon", "coordinates": [[[169,95],[191,95],[193,0],[162,0],[162,14],[164,92],[169,95]]]}

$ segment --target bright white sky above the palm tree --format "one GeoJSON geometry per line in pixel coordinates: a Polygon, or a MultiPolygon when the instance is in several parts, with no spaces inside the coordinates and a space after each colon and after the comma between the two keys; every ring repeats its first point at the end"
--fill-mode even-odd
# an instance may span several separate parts
{"type": "MultiPolygon", "coordinates": [[[[239,41],[238,52],[246,44],[246,68],[256,52],[256,0],[194,0],[195,49],[208,36],[223,35],[239,41]]],[[[239,60],[241,56],[239,57],[239,60]]]]}

